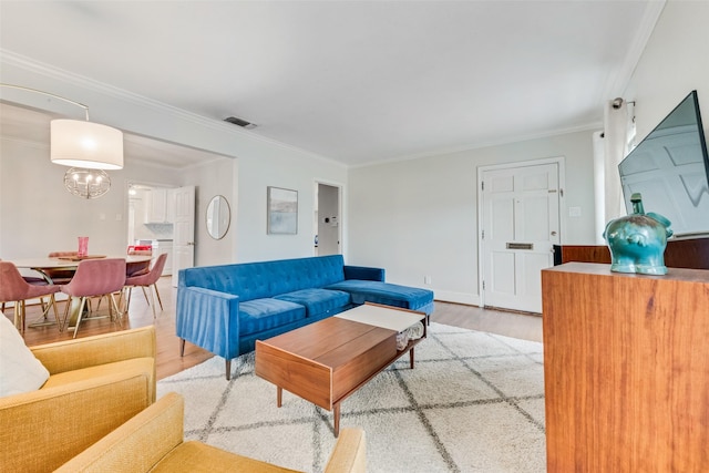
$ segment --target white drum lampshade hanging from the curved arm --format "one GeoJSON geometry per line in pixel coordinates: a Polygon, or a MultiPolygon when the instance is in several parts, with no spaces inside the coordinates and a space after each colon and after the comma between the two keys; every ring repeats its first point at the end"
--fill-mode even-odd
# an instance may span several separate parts
{"type": "Polygon", "coordinates": [[[52,163],[90,169],[123,168],[123,133],[111,126],[80,120],[52,120],[52,163]]]}

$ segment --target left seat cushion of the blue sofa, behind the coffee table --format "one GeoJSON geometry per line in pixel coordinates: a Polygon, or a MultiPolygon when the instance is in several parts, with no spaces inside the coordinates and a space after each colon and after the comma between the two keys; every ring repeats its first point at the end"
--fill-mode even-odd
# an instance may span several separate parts
{"type": "Polygon", "coordinates": [[[239,337],[259,333],[306,318],[306,308],[271,298],[239,304],[239,337]]]}

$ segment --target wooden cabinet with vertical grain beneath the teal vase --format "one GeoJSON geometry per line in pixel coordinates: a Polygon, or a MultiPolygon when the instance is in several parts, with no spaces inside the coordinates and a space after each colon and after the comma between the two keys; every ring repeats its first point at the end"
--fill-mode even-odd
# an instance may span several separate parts
{"type": "Polygon", "coordinates": [[[542,271],[548,472],[709,472],[709,271],[542,271]]]}

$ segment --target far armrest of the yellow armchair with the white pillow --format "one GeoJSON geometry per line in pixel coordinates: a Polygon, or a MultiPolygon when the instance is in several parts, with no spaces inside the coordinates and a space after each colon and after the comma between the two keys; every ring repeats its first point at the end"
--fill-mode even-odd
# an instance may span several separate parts
{"type": "MultiPolygon", "coordinates": [[[[50,374],[80,370],[133,358],[155,358],[155,327],[79,338],[30,348],[50,374]]],[[[153,373],[153,379],[155,373],[153,373]]]]}

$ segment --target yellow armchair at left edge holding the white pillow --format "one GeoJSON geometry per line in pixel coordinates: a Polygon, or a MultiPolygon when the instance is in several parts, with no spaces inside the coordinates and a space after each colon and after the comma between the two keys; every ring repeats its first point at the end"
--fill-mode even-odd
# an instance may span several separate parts
{"type": "Polygon", "coordinates": [[[155,401],[152,326],[30,349],[50,378],[0,398],[3,471],[52,471],[155,401]]]}

